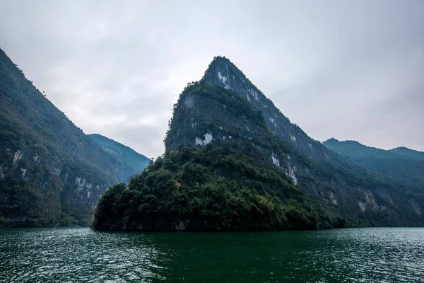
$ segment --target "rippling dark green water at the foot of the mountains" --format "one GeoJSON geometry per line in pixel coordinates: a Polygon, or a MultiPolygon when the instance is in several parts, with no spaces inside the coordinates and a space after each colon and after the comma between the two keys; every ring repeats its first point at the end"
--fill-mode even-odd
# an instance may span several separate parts
{"type": "Polygon", "coordinates": [[[3,229],[0,281],[424,282],[424,229],[262,233],[3,229]]]}

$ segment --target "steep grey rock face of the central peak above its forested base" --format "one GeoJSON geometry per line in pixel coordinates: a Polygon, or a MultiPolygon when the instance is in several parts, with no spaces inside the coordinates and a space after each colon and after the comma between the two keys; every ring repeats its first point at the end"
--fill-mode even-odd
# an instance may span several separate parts
{"type": "Polygon", "coordinates": [[[174,108],[166,151],[180,145],[206,146],[231,140],[248,142],[281,168],[306,192],[317,195],[367,225],[423,225],[423,195],[404,195],[405,185],[351,163],[305,134],[285,117],[247,77],[225,57],[216,57],[200,83],[225,88],[249,102],[231,103],[197,93],[189,83],[174,108]],[[187,93],[188,92],[188,93],[187,93]],[[411,205],[413,203],[413,205],[411,205]]]}

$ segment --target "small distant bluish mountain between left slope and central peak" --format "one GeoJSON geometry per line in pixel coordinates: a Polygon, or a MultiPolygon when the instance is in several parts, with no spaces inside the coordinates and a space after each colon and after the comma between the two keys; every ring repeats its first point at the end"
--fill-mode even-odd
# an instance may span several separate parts
{"type": "Polygon", "coordinates": [[[127,179],[140,173],[148,166],[149,158],[139,154],[134,149],[131,149],[124,144],[120,144],[113,139],[103,137],[100,134],[88,134],[88,137],[96,141],[109,154],[112,154],[117,160],[126,166],[125,171],[128,174],[127,179]]]}

